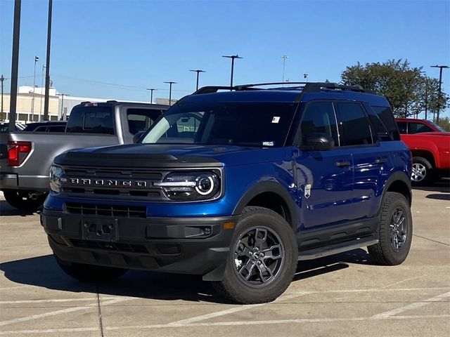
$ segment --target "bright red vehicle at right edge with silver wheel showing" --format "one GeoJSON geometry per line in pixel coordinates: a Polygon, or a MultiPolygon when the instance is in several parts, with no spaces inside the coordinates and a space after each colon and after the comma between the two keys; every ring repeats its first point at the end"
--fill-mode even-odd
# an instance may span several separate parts
{"type": "Polygon", "coordinates": [[[450,176],[450,133],[427,132],[401,135],[413,156],[413,185],[428,185],[450,176]]]}

